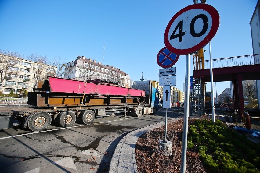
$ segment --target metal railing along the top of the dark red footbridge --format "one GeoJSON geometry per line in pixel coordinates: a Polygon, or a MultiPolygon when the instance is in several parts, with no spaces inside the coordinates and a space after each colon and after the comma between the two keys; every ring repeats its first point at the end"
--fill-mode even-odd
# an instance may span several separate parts
{"type": "MultiPolygon", "coordinates": [[[[260,54],[212,59],[212,68],[234,67],[254,64],[260,64],[260,54]]],[[[204,61],[204,69],[210,69],[210,60],[204,61]]]]}

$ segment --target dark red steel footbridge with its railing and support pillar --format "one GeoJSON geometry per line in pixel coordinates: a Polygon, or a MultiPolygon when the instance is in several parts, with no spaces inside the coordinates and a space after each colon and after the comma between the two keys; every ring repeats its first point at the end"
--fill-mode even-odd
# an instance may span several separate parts
{"type": "MultiPolygon", "coordinates": [[[[238,114],[240,117],[242,116],[242,111],[245,109],[242,81],[260,80],[259,57],[260,54],[212,60],[215,64],[212,68],[213,82],[233,82],[234,107],[239,109],[238,114]]],[[[204,83],[210,82],[210,69],[193,70],[193,78],[198,77],[204,83]]]]}

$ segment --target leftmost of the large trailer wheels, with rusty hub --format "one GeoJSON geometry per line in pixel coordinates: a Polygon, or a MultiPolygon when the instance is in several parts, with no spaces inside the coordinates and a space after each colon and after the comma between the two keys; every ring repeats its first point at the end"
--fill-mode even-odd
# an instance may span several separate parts
{"type": "Polygon", "coordinates": [[[49,127],[52,117],[47,112],[35,113],[28,120],[28,128],[33,132],[40,132],[49,127]]]}

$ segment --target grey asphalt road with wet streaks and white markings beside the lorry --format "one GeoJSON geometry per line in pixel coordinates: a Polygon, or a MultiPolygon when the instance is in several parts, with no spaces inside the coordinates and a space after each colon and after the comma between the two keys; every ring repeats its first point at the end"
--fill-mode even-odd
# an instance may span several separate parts
{"type": "MultiPolygon", "coordinates": [[[[168,109],[168,118],[182,115],[168,109]]],[[[107,172],[117,144],[127,133],[162,121],[163,108],[156,115],[113,115],[69,128],[52,123],[43,132],[20,126],[0,130],[0,172],[107,172]]]]}

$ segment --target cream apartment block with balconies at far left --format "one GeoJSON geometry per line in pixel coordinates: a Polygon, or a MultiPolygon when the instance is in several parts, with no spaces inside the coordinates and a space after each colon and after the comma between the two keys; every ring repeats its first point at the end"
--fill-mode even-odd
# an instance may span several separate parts
{"type": "Polygon", "coordinates": [[[0,54],[1,92],[19,94],[33,91],[39,80],[55,76],[57,67],[0,54]]]}

